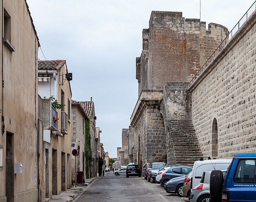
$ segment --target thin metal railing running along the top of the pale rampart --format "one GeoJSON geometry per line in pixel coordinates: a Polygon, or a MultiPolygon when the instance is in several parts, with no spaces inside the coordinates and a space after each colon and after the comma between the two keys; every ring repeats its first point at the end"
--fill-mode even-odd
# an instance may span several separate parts
{"type": "Polygon", "coordinates": [[[236,34],[236,32],[242,27],[242,25],[246,22],[246,20],[252,15],[252,13],[256,10],[256,1],[251,5],[251,7],[246,11],[246,13],[242,16],[242,18],[238,21],[238,23],[234,26],[234,28],[229,32],[226,38],[219,44],[216,50],[212,53],[210,58],[204,63],[204,65],[200,68],[200,70],[196,73],[196,75],[189,82],[189,86],[196,80],[196,78],[206,69],[207,65],[211,63],[211,61],[215,58],[215,56],[222,50],[222,48],[229,42],[229,40],[236,34]]]}

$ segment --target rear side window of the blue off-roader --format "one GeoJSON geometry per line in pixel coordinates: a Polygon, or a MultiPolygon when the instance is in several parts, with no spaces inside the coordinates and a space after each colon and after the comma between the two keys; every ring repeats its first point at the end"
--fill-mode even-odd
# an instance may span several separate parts
{"type": "Polygon", "coordinates": [[[256,160],[240,160],[236,168],[234,182],[256,183],[256,160]]]}

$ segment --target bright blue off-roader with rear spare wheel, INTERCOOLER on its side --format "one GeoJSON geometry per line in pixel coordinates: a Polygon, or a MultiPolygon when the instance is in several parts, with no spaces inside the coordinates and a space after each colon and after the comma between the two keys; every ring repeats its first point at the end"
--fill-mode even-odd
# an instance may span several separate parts
{"type": "Polygon", "coordinates": [[[256,202],[256,153],[236,154],[222,180],[220,170],[211,172],[212,202],[256,202]]]}

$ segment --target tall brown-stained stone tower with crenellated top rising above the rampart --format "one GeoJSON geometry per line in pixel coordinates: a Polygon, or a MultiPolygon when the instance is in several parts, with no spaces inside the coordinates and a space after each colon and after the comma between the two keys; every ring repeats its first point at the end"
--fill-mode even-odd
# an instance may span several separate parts
{"type": "Polygon", "coordinates": [[[185,20],[182,12],[152,11],[136,66],[139,94],[162,89],[167,82],[189,82],[228,33],[214,23],[208,25],[209,30],[205,28],[205,22],[185,20]]]}

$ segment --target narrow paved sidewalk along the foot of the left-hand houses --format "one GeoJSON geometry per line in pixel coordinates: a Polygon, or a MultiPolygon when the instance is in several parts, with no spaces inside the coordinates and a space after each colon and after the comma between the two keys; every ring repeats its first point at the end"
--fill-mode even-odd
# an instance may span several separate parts
{"type": "MultiPolygon", "coordinates": [[[[102,176],[100,177],[102,178],[102,176]]],[[[80,197],[80,195],[84,193],[84,191],[87,190],[87,186],[89,186],[91,183],[93,183],[100,177],[85,179],[84,184],[76,184],[76,187],[71,187],[71,189],[67,189],[67,191],[61,191],[60,195],[54,195],[50,202],[74,202],[77,198],[80,197]]]]}

